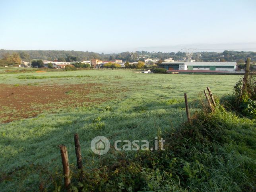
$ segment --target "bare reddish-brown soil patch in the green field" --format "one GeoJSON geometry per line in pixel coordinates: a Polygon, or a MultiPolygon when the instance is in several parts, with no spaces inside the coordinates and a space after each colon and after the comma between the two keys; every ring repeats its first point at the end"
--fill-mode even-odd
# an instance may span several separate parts
{"type": "Polygon", "coordinates": [[[10,122],[45,111],[101,103],[114,99],[114,92],[107,91],[99,83],[37,86],[0,84],[0,121],[10,122]]]}

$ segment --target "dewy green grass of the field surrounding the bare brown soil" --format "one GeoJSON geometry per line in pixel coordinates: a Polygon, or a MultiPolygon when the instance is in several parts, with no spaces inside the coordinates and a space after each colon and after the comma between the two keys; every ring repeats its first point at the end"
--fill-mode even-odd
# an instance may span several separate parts
{"type": "MultiPolygon", "coordinates": [[[[233,86],[240,78],[225,75],[136,74],[120,70],[61,71],[30,75],[0,74],[0,78],[1,83],[14,86],[101,83],[99,88],[104,91],[118,91],[117,98],[93,105],[88,103],[88,107],[67,106],[53,114],[46,112],[35,118],[0,124],[0,170],[2,173],[10,173],[17,169],[17,175],[11,174],[10,180],[8,175],[3,174],[7,179],[0,183],[1,191],[38,190],[42,180],[47,185],[49,174],[62,170],[58,149],[60,144],[68,147],[70,163],[75,165],[74,133],[80,136],[81,153],[86,169],[98,167],[102,161],[90,149],[90,142],[95,136],[111,138],[112,145],[115,140],[149,140],[150,144],[153,144],[155,136],[164,138],[186,121],[184,92],[188,93],[193,114],[200,111],[196,99],[207,86],[210,86],[214,95],[220,97],[232,93],[233,86]],[[35,167],[37,168],[34,169],[35,167]]],[[[68,91],[66,94],[73,93],[68,91]]],[[[93,96],[101,97],[97,93],[90,97],[93,96]]],[[[248,135],[246,132],[237,134],[237,131],[239,130],[231,131],[230,134],[237,138],[248,135]]],[[[221,147],[228,150],[231,146],[221,147]]],[[[250,149],[247,148],[243,149],[241,146],[239,150],[248,150],[250,153],[250,149]]],[[[214,158],[220,158],[218,153],[221,152],[216,152],[214,158]]],[[[232,151],[231,153],[233,154],[232,151]]],[[[134,159],[134,155],[134,151],[128,151],[126,159],[134,159]]],[[[115,159],[116,156],[107,153],[104,158],[115,159]]],[[[232,156],[229,158],[233,159],[232,156]]],[[[205,154],[202,155],[202,161],[213,160],[210,154],[205,154]]],[[[211,171],[211,190],[221,188],[218,186],[218,179],[221,179],[218,175],[221,166],[224,166],[224,169],[225,165],[213,164],[209,169],[214,170],[216,166],[219,166],[217,171],[211,171]]],[[[150,180],[152,183],[155,182],[153,176],[150,180]]],[[[233,181],[226,183],[230,186],[233,181]]],[[[177,188],[179,186],[178,183],[173,185],[177,188]]]]}

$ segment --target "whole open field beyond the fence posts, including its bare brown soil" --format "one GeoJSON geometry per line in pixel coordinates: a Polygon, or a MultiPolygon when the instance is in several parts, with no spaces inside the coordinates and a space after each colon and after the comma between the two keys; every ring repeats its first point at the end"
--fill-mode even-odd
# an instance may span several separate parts
{"type": "MultiPolygon", "coordinates": [[[[19,170],[0,189],[37,190],[42,178],[62,169],[60,144],[75,165],[74,133],[80,135],[86,167],[101,161],[90,149],[95,136],[106,136],[111,144],[118,139],[153,144],[155,136],[164,138],[186,121],[184,92],[194,113],[207,86],[221,97],[232,93],[239,78],[115,70],[0,74],[0,170],[19,170]],[[39,174],[29,168],[32,163],[47,171],[39,174]]],[[[128,151],[126,158],[134,154],[128,151]]]]}

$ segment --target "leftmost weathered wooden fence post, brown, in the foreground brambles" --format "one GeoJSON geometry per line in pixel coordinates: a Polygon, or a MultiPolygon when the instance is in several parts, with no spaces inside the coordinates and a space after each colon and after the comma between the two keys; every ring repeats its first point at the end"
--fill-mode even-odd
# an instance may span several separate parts
{"type": "Polygon", "coordinates": [[[69,163],[68,163],[68,150],[65,145],[60,145],[60,154],[61,154],[61,160],[63,165],[63,174],[64,174],[64,184],[65,187],[68,188],[70,186],[70,169],[69,169],[69,163]]]}

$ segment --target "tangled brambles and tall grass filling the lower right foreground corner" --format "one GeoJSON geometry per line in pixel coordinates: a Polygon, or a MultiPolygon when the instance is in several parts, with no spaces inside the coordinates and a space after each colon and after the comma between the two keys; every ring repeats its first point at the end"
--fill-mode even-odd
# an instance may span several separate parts
{"type": "Polygon", "coordinates": [[[192,125],[184,124],[165,139],[165,151],[140,151],[132,159],[112,151],[114,156],[103,157],[97,169],[84,171],[83,181],[73,173],[72,190],[255,190],[254,121],[219,106],[211,114],[199,112],[192,125]]]}

